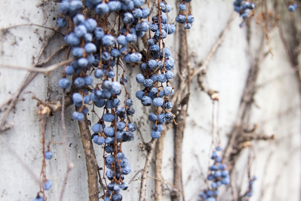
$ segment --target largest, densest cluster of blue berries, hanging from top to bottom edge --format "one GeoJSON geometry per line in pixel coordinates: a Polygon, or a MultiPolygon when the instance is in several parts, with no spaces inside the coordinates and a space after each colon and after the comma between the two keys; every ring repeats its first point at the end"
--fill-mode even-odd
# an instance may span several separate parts
{"type": "Polygon", "coordinates": [[[129,174],[131,167],[129,159],[122,152],[121,143],[133,140],[135,137],[133,131],[137,127],[129,119],[129,116],[135,113],[129,93],[126,93],[123,105],[118,98],[128,78],[125,77],[123,70],[122,77],[117,80],[114,68],[122,67],[120,64],[122,61],[137,63],[142,58],[139,52],[135,52],[133,46],[150,27],[148,21],[142,20],[148,18],[151,12],[149,8],[141,8],[144,2],[144,0],[84,1],[85,6],[93,9],[98,16],[106,18],[110,13],[119,15],[123,24],[119,24],[118,36],[111,34],[107,24],[96,21],[97,17],[87,19],[82,15],[83,4],[80,0],[61,1],[61,17],[57,20],[60,27],[66,26],[67,22],[74,27],[64,40],[71,47],[76,61],[64,68],[63,78],[58,83],[61,88],[68,89],[71,82],[66,76],[74,74],[76,76],[73,84],[78,91],[73,93],[72,99],[78,109],[73,112],[73,118],[82,121],[88,113],[87,104],[104,109],[99,121],[92,126],[93,142],[98,145],[104,144],[107,153],[104,156],[108,168],[106,176],[111,183],[107,185],[104,200],[120,201],[122,200],[120,189],[128,188],[128,184],[123,182],[123,175],[129,174]],[[94,70],[94,77],[86,74],[91,69],[94,70]],[[101,81],[93,87],[95,78],[101,81]]]}

